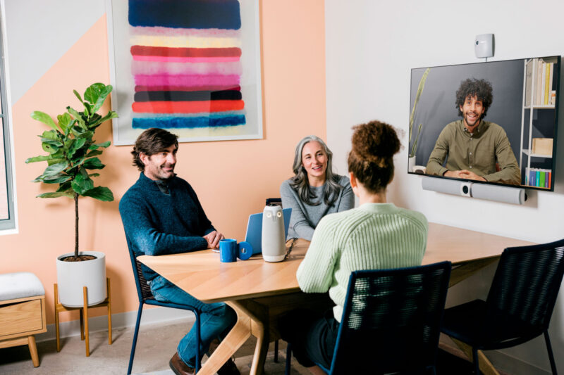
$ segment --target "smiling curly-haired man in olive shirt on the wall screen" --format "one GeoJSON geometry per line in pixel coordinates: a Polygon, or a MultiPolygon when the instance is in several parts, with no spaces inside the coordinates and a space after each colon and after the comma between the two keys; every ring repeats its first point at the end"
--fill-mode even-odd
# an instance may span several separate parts
{"type": "Polygon", "coordinates": [[[521,172],[505,130],[486,117],[493,96],[486,80],[467,79],[456,91],[462,120],[450,122],[436,140],[427,173],[459,179],[521,183],[521,172]],[[446,167],[443,163],[447,158],[446,167]]]}

